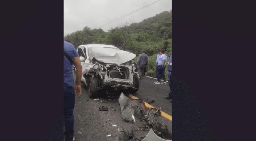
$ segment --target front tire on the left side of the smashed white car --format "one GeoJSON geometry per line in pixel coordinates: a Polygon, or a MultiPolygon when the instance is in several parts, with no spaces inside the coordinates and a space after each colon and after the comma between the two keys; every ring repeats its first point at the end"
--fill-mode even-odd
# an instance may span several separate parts
{"type": "Polygon", "coordinates": [[[92,76],[90,76],[87,83],[87,91],[90,98],[95,97],[98,91],[97,88],[98,88],[97,78],[96,77],[92,78],[92,76]]]}

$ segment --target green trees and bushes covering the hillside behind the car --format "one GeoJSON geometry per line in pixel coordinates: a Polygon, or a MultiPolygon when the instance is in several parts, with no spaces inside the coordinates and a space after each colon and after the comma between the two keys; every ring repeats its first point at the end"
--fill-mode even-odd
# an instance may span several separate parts
{"type": "MultiPolygon", "coordinates": [[[[166,62],[172,53],[172,12],[171,10],[165,11],[139,23],[119,24],[111,28],[109,32],[86,26],[83,30],[64,36],[64,40],[66,39],[69,39],[75,48],[82,44],[114,45],[119,49],[136,54],[135,62],[141,54],[141,50],[144,49],[149,58],[146,76],[155,76],[158,54],[156,50],[158,48],[165,50],[168,57],[166,62]]],[[[168,81],[167,76],[166,67],[166,81],[168,81]]]]}

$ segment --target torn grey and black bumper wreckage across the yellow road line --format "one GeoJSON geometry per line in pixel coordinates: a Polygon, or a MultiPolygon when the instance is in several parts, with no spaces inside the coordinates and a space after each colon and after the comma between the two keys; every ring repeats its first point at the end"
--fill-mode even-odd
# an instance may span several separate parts
{"type": "MultiPolygon", "coordinates": [[[[159,116],[160,111],[158,109],[147,108],[142,99],[131,99],[123,93],[120,95],[118,101],[121,107],[122,120],[129,121],[131,123],[139,122],[143,127],[141,131],[149,130],[149,128],[153,129],[154,134],[158,136],[158,139],[162,139],[159,141],[168,141],[166,139],[172,139],[171,132],[167,129],[167,126],[164,126],[164,123],[161,123],[161,121],[157,121],[157,118],[155,117],[159,116]]],[[[132,133],[136,132],[132,129],[132,133]]],[[[135,139],[141,139],[145,137],[142,135],[142,133],[137,133],[133,137],[135,137],[135,139]]],[[[149,133],[148,135],[149,137],[154,136],[152,133],[149,133]]],[[[148,139],[149,138],[145,141],[150,141],[148,139]]]]}

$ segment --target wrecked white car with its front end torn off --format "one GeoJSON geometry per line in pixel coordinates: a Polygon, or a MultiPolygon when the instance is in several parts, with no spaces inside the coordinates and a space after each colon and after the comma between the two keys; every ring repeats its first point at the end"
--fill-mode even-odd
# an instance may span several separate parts
{"type": "MultiPolygon", "coordinates": [[[[132,61],[135,54],[105,44],[80,45],[77,52],[83,72],[81,81],[90,98],[100,89],[106,89],[107,96],[121,90],[135,93],[139,89],[139,66],[132,61]]],[[[74,72],[76,78],[76,69],[74,72]]]]}

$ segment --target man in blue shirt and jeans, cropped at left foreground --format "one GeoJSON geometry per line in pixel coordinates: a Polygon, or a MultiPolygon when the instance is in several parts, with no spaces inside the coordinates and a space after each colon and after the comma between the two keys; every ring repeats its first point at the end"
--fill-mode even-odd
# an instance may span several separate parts
{"type": "Polygon", "coordinates": [[[82,66],[75,47],[64,41],[64,124],[65,141],[74,141],[74,114],[75,95],[81,94],[82,66]],[[72,65],[77,68],[77,83],[74,89],[72,65]]]}

